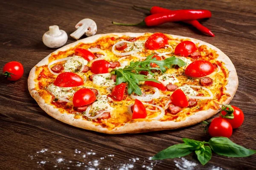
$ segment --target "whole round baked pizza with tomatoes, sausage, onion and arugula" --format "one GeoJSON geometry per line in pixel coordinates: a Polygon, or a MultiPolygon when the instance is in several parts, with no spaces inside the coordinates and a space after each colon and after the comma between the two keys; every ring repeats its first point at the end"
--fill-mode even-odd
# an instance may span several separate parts
{"type": "Polygon", "coordinates": [[[87,37],[49,54],[28,78],[47,114],[110,134],[194,125],[230,103],[237,87],[236,69],[218,48],[162,33],[87,37]]]}

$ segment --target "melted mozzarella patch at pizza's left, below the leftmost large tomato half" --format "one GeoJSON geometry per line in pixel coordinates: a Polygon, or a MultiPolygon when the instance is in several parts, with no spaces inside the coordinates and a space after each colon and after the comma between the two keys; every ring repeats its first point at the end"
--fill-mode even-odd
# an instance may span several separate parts
{"type": "Polygon", "coordinates": [[[74,96],[75,92],[72,88],[61,88],[53,84],[47,87],[47,90],[50,91],[55,97],[64,97],[64,96],[74,96]]]}

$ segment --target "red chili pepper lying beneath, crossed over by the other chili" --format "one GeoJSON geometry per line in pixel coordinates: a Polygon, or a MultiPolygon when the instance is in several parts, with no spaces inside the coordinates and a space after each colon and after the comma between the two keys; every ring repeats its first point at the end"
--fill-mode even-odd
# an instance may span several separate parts
{"type": "MultiPolygon", "coordinates": [[[[150,14],[159,14],[159,13],[166,13],[166,12],[172,11],[170,9],[162,8],[162,7],[159,7],[159,6],[153,6],[150,9],[149,8],[139,7],[139,6],[134,6],[134,7],[135,8],[142,8],[142,9],[148,10],[148,11],[150,11],[150,14]]],[[[203,26],[197,20],[185,20],[185,21],[182,21],[182,22],[183,23],[188,23],[188,24],[194,26],[199,31],[203,32],[204,34],[207,34],[209,36],[215,37],[215,35],[212,33],[212,31],[210,31],[208,28],[203,26]]]]}

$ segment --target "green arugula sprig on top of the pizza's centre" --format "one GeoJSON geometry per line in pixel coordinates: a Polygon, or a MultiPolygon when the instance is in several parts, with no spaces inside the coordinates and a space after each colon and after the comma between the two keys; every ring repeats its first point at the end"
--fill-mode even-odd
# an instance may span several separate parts
{"type": "MultiPolygon", "coordinates": [[[[149,55],[144,61],[131,62],[125,68],[114,69],[112,74],[116,74],[116,85],[122,82],[128,83],[128,94],[135,93],[141,95],[142,92],[139,87],[140,81],[158,82],[156,79],[148,79],[147,76],[139,74],[139,71],[148,71],[154,76],[153,70],[160,70],[162,73],[166,72],[166,68],[171,68],[172,65],[182,67],[186,65],[182,59],[176,57],[169,57],[164,60],[157,60],[152,58],[154,55],[149,55]],[[152,68],[150,63],[155,63],[159,68],[152,68]]],[[[158,82],[159,83],[159,82],[158,82]]]]}

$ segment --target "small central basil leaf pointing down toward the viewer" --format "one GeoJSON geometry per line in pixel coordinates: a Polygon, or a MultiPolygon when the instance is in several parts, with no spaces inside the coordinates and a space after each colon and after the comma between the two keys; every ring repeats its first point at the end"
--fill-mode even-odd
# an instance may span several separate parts
{"type": "Polygon", "coordinates": [[[198,156],[198,160],[202,165],[207,164],[207,162],[212,158],[212,150],[209,146],[204,146],[204,148],[196,150],[195,154],[198,156]]]}

